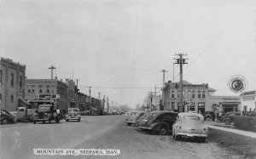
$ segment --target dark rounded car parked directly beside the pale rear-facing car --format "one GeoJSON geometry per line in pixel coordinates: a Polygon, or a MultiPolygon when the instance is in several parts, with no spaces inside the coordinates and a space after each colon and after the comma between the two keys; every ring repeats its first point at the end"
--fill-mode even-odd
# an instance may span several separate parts
{"type": "Polygon", "coordinates": [[[139,128],[148,133],[159,133],[166,135],[172,133],[172,124],[176,122],[177,112],[173,111],[153,111],[143,120],[139,128]]]}

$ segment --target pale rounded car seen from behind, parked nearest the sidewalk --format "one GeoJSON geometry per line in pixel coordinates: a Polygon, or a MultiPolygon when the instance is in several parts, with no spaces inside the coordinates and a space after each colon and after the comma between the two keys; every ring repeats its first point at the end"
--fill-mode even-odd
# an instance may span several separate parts
{"type": "Polygon", "coordinates": [[[172,126],[175,140],[181,138],[199,139],[205,142],[208,128],[204,125],[204,117],[196,112],[182,112],[177,116],[177,122],[172,126]]]}

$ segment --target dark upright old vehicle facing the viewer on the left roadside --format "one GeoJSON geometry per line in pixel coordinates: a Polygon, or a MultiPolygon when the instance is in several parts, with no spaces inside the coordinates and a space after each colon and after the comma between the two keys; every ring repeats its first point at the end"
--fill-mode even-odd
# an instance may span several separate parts
{"type": "Polygon", "coordinates": [[[38,111],[32,116],[34,124],[37,122],[60,122],[60,114],[55,110],[54,105],[38,105],[38,111]]]}

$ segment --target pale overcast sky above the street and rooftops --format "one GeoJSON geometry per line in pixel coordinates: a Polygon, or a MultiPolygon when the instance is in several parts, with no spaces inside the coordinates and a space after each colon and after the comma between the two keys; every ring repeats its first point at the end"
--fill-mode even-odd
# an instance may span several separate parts
{"type": "Polygon", "coordinates": [[[175,54],[187,54],[183,80],[216,95],[230,77],[256,89],[256,1],[2,0],[0,56],[26,65],[28,79],[79,79],[84,94],[118,105],[142,104],[179,80],[175,54]]]}

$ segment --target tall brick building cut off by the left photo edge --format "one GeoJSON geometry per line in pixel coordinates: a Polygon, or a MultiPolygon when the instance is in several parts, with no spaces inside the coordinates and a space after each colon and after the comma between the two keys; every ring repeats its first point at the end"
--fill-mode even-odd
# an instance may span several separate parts
{"type": "Polygon", "coordinates": [[[4,58],[0,63],[0,108],[16,111],[26,94],[26,65],[4,58]]]}

